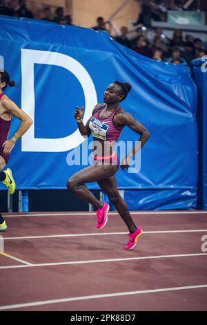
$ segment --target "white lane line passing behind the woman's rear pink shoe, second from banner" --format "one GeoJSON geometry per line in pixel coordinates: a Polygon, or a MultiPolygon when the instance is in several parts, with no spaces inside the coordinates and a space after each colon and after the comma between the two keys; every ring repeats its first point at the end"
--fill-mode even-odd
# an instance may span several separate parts
{"type": "MultiPolygon", "coordinates": [[[[160,231],[151,231],[143,232],[143,234],[173,234],[173,233],[183,233],[183,232],[207,232],[207,229],[198,229],[198,230],[160,230],[160,231]]],[[[89,234],[50,234],[46,236],[22,236],[22,237],[3,237],[6,240],[12,239],[44,239],[44,238],[62,238],[62,237],[81,237],[81,236],[106,236],[106,235],[115,235],[115,234],[128,234],[128,232],[92,232],[89,234]]]]}

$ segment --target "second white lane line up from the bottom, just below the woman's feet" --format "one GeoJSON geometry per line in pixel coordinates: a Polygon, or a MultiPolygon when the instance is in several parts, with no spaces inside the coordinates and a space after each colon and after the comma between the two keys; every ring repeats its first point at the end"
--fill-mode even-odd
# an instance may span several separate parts
{"type": "Polygon", "coordinates": [[[117,262],[117,261],[137,261],[141,259],[168,259],[174,257],[204,257],[207,253],[197,253],[197,254],[176,254],[176,255],[157,255],[157,256],[146,256],[146,257],[126,257],[122,259],[95,259],[88,261],[68,261],[68,262],[55,262],[55,263],[37,263],[32,265],[21,265],[21,266],[0,266],[0,269],[7,268],[34,268],[40,266],[65,266],[65,265],[75,265],[75,264],[89,264],[89,263],[106,263],[106,262],[117,262]]]}

